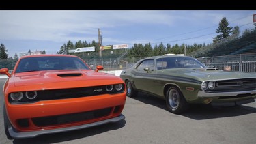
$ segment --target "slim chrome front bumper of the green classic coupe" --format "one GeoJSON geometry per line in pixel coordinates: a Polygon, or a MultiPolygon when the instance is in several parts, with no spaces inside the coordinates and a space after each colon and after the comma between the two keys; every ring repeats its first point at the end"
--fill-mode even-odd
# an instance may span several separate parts
{"type": "Polygon", "coordinates": [[[256,89],[251,91],[236,91],[236,92],[222,92],[222,93],[205,93],[198,91],[197,96],[200,98],[221,97],[221,96],[238,96],[240,94],[256,95],[256,89]]]}

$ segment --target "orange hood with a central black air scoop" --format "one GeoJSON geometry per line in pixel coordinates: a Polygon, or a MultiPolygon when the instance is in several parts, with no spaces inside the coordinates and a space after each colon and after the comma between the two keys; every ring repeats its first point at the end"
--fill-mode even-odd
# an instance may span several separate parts
{"type": "Polygon", "coordinates": [[[108,85],[110,83],[115,83],[115,81],[119,81],[119,78],[113,74],[94,72],[93,70],[51,70],[39,72],[23,72],[14,74],[12,78],[12,82],[14,83],[15,87],[26,85],[33,85],[33,87],[40,85],[40,87],[42,87],[43,85],[46,89],[51,89],[53,87],[71,88],[108,85]]]}

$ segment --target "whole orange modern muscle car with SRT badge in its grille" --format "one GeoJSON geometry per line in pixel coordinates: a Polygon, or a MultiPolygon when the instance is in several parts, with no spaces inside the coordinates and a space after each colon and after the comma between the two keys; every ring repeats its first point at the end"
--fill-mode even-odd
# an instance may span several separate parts
{"type": "Polygon", "coordinates": [[[20,57],[3,86],[3,116],[8,139],[89,128],[124,119],[121,78],[91,70],[72,55],[20,57]]]}

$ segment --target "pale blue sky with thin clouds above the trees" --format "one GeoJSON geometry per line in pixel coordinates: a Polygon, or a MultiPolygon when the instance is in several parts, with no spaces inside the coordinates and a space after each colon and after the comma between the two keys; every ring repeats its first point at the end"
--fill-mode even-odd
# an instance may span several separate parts
{"type": "Polygon", "coordinates": [[[210,44],[218,23],[253,29],[256,10],[0,10],[0,43],[8,57],[29,50],[56,54],[69,40],[102,45],[210,44]]]}

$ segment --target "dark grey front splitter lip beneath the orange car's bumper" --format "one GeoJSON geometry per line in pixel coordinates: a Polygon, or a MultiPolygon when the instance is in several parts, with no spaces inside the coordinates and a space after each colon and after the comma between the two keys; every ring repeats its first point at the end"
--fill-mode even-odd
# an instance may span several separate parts
{"type": "Polygon", "coordinates": [[[106,124],[106,123],[113,123],[113,122],[117,122],[117,121],[121,121],[122,119],[124,119],[124,115],[119,115],[118,117],[114,117],[112,119],[106,119],[104,121],[98,121],[98,122],[94,122],[91,124],[84,124],[81,126],[72,126],[72,127],[68,127],[68,128],[58,128],[58,129],[53,129],[53,130],[40,130],[40,131],[33,131],[33,132],[16,132],[16,130],[14,130],[13,127],[10,127],[8,129],[10,135],[14,138],[14,139],[21,139],[21,138],[32,138],[35,136],[39,136],[42,134],[53,134],[53,133],[57,133],[57,132],[68,132],[71,130],[80,130],[83,128],[89,128],[92,126],[99,126],[102,124],[106,124]]]}

